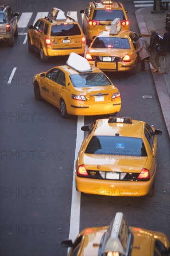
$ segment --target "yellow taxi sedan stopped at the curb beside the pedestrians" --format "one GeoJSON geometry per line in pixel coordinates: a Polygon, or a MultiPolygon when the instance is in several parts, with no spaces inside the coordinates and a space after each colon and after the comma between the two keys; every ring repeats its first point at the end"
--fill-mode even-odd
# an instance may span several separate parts
{"type": "Polygon", "coordinates": [[[102,31],[95,37],[85,58],[102,71],[129,71],[136,74],[135,37],[135,32],[121,30],[120,20],[115,19],[109,31],[102,31]]]}

